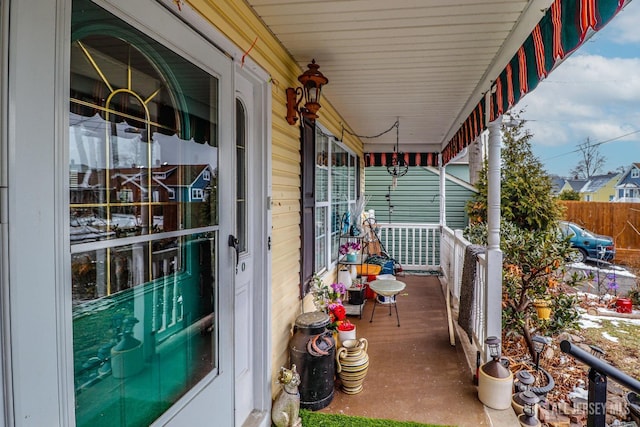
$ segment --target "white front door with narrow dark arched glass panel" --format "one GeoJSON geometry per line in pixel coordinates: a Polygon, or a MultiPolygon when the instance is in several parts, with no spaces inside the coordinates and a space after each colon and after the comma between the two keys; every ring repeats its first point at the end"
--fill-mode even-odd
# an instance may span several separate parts
{"type": "Polygon", "coordinates": [[[237,265],[234,302],[235,343],[235,421],[237,426],[259,412],[261,404],[261,371],[264,367],[264,348],[260,345],[264,325],[266,300],[262,271],[264,259],[265,199],[263,158],[259,149],[263,138],[256,104],[260,103],[260,85],[236,72],[236,233],[237,265]],[[257,99],[256,99],[257,98],[257,99]]]}

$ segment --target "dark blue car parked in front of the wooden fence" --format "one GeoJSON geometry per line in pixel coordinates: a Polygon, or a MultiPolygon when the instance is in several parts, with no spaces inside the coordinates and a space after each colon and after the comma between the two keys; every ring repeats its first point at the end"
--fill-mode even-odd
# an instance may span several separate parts
{"type": "Polygon", "coordinates": [[[560,221],[563,236],[570,236],[571,246],[577,249],[575,261],[611,261],[616,255],[613,237],[601,236],[576,223],[560,221]]]}

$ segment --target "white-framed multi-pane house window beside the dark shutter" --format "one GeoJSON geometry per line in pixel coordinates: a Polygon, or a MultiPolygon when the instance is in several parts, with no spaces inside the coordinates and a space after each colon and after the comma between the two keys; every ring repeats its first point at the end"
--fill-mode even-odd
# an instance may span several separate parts
{"type": "Polygon", "coordinates": [[[333,136],[316,128],[315,271],[337,261],[339,236],[357,199],[357,159],[333,136]]]}

